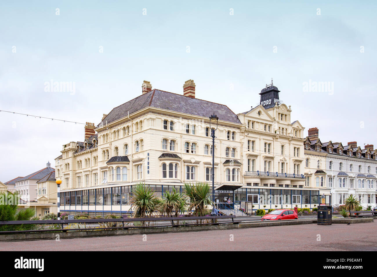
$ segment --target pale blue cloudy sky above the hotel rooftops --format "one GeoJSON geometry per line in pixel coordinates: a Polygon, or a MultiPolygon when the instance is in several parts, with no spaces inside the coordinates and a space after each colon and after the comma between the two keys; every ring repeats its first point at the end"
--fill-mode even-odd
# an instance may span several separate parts
{"type": "MultiPolygon", "coordinates": [[[[143,80],[182,93],[193,79],[197,98],[239,113],[258,104],[273,77],[305,135],[318,127],[322,142],[377,147],[376,4],[327,2],[2,2],[0,110],[98,124],[141,94],[143,80]],[[75,95],[44,92],[51,79],[75,82],[75,95]],[[334,94],[303,92],[309,80],[334,82],[334,94]]],[[[83,125],[6,113],[0,126],[3,182],[54,164],[62,145],[84,133],[83,125]]]]}

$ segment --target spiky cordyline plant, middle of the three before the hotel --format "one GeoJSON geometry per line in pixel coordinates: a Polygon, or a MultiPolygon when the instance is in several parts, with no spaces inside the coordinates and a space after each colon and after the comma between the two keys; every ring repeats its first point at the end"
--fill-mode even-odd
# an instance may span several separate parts
{"type": "Polygon", "coordinates": [[[163,216],[173,216],[174,212],[174,216],[177,217],[179,212],[185,210],[185,198],[183,197],[183,194],[176,191],[175,188],[173,188],[171,193],[165,191],[161,201],[160,211],[163,216]]]}

